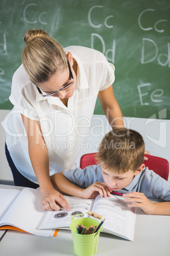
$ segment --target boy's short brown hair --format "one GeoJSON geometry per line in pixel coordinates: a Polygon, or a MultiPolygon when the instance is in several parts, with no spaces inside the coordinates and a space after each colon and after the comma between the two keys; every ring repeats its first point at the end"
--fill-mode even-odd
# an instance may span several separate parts
{"type": "Polygon", "coordinates": [[[105,169],[126,173],[143,163],[145,143],[141,134],[126,128],[113,129],[102,139],[96,159],[105,169]]]}

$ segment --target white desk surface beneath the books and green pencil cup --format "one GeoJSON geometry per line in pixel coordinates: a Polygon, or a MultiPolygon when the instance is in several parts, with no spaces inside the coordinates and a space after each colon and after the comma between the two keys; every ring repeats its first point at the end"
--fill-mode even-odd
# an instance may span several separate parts
{"type": "MultiPolygon", "coordinates": [[[[0,185],[1,188],[11,186],[0,185]]],[[[15,188],[15,187],[12,187],[15,188]]],[[[18,188],[18,187],[17,187],[18,188]]],[[[1,235],[1,234],[0,234],[1,235]]],[[[8,231],[0,243],[1,256],[74,255],[70,231],[58,231],[56,238],[42,238],[8,231]]],[[[169,256],[170,216],[147,215],[137,210],[134,241],[101,233],[96,256],[169,256]]]]}

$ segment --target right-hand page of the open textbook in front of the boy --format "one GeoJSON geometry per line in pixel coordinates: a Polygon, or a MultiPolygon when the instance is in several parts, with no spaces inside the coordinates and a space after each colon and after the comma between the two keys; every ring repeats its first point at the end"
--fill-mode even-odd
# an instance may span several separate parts
{"type": "Polygon", "coordinates": [[[129,208],[128,203],[124,202],[124,197],[97,196],[92,211],[105,218],[103,232],[133,241],[136,208],[129,208]]]}

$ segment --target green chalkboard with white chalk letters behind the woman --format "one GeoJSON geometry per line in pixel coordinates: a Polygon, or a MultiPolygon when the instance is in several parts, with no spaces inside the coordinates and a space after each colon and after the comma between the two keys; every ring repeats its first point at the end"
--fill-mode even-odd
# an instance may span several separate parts
{"type": "MultiPolygon", "coordinates": [[[[0,109],[29,29],[63,47],[103,52],[115,65],[114,93],[124,117],[170,119],[169,0],[0,0],[0,109]]],[[[103,114],[97,101],[96,114],[103,114]]]]}

